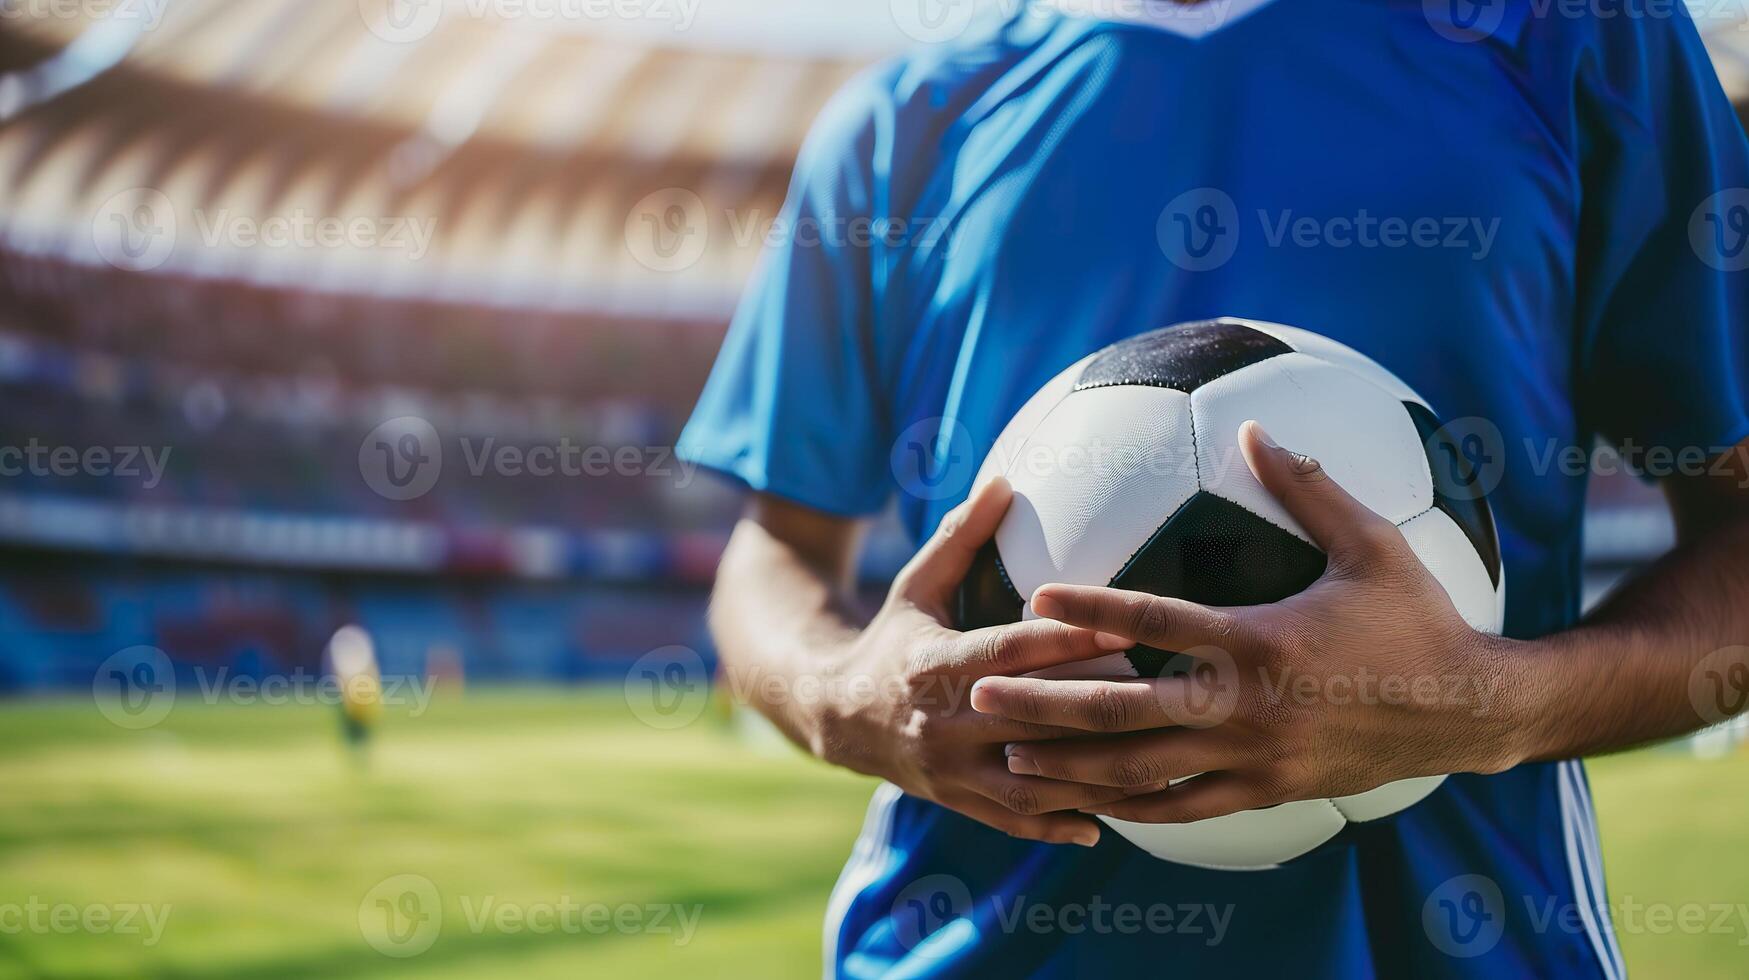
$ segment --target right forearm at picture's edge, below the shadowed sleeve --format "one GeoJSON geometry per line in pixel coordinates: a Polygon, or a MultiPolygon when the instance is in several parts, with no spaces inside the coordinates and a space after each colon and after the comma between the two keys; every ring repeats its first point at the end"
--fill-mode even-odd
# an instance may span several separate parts
{"type": "Polygon", "coordinates": [[[1718,721],[1737,698],[1714,710],[1695,691],[1744,676],[1730,662],[1749,651],[1716,651],[1749,642],[1749,522],[1684,542],[1572,630],[1501,642],[1516,665],[1515,756],[1525,761],[1628,749],[1718,721]]]}

